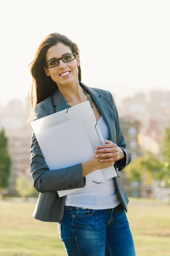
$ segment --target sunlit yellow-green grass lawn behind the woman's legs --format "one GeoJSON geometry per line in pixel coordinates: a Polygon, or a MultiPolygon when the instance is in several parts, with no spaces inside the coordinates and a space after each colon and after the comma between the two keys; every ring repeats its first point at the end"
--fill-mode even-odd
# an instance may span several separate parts
{"type": "MultiPolygon", "coordinates": [[[[57,224],[32,217],[35,204],[0,201],[0,256],[66,256],[57,224]]],[[[170,205],[131,201],[136,256],[170,256],[170,205]]]]}

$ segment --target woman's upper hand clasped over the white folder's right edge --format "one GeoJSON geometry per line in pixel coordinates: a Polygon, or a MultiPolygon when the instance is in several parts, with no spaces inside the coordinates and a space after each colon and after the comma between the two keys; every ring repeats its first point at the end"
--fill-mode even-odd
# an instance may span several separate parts
{"type": "Polygon", "coordinates": [[[101,159],[100,162],[113,162],[125,157],[122,148],[119,148],[115,143],[110,140],[105,140],[105,143],[105,145],[98,146],[94,151],[97,159],[105,158],[101,159]]]}

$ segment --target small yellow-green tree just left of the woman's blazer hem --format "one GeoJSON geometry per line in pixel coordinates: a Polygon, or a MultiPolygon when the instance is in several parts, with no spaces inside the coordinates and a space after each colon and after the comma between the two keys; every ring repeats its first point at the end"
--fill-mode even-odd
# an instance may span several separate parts
{"type": "Polygon", "coordinates": [[[29,195],[37,195],[31,180],[28,181],[26,177],[17,178],[16,190],[24,200],[26,200],[29,195]]]}

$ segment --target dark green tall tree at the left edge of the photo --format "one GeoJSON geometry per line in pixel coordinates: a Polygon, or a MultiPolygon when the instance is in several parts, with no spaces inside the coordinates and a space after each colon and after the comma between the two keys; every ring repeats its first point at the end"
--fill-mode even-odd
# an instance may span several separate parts
{"type": "Polygon", "coordinates": [[[8,153],[8,139],[4,129],[0,131],[0,193],[8,186],[11,158],[8,153]]]}

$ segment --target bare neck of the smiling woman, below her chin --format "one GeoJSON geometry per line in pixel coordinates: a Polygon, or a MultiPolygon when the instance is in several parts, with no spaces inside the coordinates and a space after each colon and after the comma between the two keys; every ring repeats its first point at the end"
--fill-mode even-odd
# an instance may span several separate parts
{"type": "Polygon", "coordinates": [[[85,101],[85,98],[87,98],[82,87],[79,85],[79,81],[75,81],[68,85],[57,84],[57,86],[67,103],[81,103],[85,101]]]}

